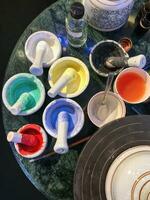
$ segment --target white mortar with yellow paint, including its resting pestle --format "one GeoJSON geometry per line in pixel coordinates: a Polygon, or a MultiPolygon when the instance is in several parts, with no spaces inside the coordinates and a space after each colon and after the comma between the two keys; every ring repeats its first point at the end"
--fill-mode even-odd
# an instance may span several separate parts
{"type": "Polygon", "coordinates": [[[89,70],[79,59],[63,57],[55,61],[50,70],[48,96],[73,98],[79,96],[89,84],[89,70]]]}

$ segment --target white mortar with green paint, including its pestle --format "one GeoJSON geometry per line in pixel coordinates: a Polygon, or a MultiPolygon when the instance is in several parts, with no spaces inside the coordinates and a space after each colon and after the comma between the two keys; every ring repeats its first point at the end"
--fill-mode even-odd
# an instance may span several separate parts
{"type": "Polygon", "coordinates": [[[29,73],[19,73],[5,83],[2,99],[13,115],[30,115],[38,111],[45,100],[42,82],[29,73]]]}

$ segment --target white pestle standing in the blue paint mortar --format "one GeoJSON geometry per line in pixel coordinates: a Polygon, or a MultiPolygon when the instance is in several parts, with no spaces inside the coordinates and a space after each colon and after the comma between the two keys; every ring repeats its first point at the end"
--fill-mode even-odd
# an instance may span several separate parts
{"type": "Polygon", "coordinates": [[[68,135],[68,113],[60,112],[57,118],[57,141],[54,146],[54,151],[58,154],[67,153],[69,150],[67,144],[67,135],[68,135]]]}

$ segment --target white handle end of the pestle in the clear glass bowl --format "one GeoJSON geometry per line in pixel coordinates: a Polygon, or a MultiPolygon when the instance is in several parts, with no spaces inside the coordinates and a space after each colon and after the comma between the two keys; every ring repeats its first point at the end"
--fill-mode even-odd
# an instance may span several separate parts
{"type": "Polygon", "coordinates": [[[141,54],[141,55],[129,58],[127,62],[128,62],[129,67],[143,68],[146,65],[146,57],[141,54]]]}

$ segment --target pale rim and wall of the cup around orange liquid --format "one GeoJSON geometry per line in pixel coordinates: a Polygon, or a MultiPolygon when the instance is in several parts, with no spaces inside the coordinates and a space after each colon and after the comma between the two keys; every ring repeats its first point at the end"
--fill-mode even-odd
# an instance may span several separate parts
{"type": "MultiPolygon", "coordinates": [[[[127,87],[127,86],[130,86],[129,82],[124,84],[124,87],[127,87]]],[[[123,101],[130,103],[130,104],[138,104],[138,103],[145,102],[150,97],[150,75],[143,69],[136,68],[136,67],[129,67],[127,69],[124,69],[122,72],[120,72],[118,74],[118,76],[114,82],[114,92],[116,94],[118,94],[119,97],[123,101]],[[145,81],[145,90],[143,92],[143,95],[141,95],[141,98],[139,98],[138,100],[135,100],[135,101],[129,101],[129,100],[125,99],[118,91],[118,86],[117,86],[118,80],[121,79],[121,77],[123,77],[123,75],[125,75],[126,73],[129,73],[129,72],[136,73],[138,76],[142,77],[143,80],[145,81]]],[[[131,91],[131,92],[133,92],[133,91],[131,91]]]]}

